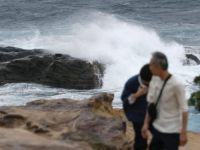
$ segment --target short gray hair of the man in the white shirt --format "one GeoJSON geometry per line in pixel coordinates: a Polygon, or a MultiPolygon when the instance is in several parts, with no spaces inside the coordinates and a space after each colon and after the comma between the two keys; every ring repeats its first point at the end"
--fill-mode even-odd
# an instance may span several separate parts
{"type": "Polygon", "coordinates": [[[165,54],[161,52],[154,52],[153,53],[153,65],[154,66],[161,66],[163,70],[167,70],[168,68],[168,61],[165,54]]]}

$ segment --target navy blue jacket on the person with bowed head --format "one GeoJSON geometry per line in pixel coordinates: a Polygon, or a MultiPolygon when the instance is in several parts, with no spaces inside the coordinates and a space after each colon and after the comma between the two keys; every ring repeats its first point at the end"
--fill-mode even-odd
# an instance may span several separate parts
{"type": "Polygon", "coordinates": [[[144,122],[145,119],[147,109],[147,94],[138,97],[131,105],[128,103],[128,97],[131,94],[136,93],[138,87],[140,86],[138,76],[139,75],[133,76],[126,82],[121,99],[123,101],[123,109],[128,120],[139,123],[144,122]]]}

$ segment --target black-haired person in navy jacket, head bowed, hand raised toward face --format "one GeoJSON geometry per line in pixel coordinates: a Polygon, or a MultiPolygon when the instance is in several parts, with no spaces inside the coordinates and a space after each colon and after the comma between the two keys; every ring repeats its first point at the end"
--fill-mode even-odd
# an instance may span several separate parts
{"type": "Polygon", "coordinates": [[[135,131],[134,150],[147,149],[147,139],[142,137],[141,129],[147,110],[146,98],[151,77],[149,64],[146,64],[140,70],[140,74],[131,77],[126,82],[121,96],[123,110],[128,120],[133,123],[135,131]]]}

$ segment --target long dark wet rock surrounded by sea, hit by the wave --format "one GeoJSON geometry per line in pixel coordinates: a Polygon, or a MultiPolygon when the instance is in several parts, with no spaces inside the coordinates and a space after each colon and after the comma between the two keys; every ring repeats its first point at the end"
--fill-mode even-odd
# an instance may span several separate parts
{"type": "Polygon", "coordinates": [[[68,89],[94,89],[103,84],[104,65],[45,50],[0,48],[0,85],[39,83],[68,89]]]}

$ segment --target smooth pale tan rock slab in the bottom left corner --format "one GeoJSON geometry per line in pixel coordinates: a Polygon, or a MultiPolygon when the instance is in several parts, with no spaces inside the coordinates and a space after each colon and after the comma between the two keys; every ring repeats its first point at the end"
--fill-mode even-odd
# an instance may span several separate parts
{"type": "Polygon", "coordinates": [[[0,150],[92,150],[84,142],[53,141],[21,129],[1,128],[0,133],[0,150]]]}

